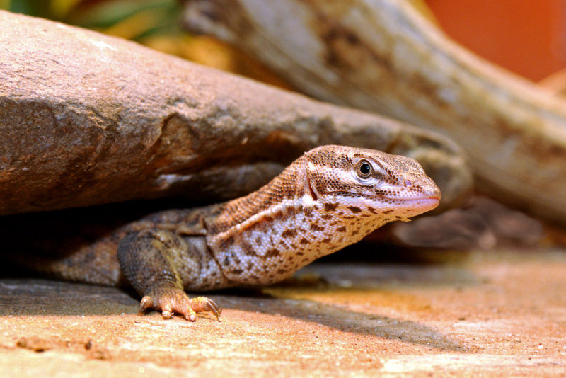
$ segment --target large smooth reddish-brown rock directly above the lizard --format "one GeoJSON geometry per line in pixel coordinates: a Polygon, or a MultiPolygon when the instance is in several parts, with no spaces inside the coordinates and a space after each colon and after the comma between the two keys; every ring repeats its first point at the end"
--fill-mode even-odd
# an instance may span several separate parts
{"type": "Polygon", "coordinates": [[[320,144],[419,159],[470,188],[445,137],[132,42],[0,11],[0,214],[255,190],[320,144]]]}

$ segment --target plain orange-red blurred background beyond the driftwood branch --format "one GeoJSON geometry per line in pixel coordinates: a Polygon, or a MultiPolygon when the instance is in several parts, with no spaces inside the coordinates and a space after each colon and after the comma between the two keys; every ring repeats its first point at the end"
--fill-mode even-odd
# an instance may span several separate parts
{"type": "Polygon", "coordinates": [[[540,81],[566,67],[566,0],[427,0],[441,28],[481,57],[540,81]]]}

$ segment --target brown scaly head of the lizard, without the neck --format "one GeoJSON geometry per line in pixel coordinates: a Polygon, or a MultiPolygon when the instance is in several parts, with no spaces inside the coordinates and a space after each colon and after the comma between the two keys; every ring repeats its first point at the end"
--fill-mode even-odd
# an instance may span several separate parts
{"type": "Polygon", "coordinates": [[[343,146],[318,147],[304,156],[306,196],[328,212],[373,217],[381,225],[439,205],[439,188],[408,157],[343,146]]]}

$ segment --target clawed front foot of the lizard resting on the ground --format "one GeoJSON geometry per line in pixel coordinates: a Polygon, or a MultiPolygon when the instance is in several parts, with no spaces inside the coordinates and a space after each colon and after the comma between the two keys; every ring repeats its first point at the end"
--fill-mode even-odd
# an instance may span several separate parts
{"type": "Polygon", "coordinates": [[[210,311],[220,321],[221,309],[212,299],[207,297],[189,298],[184,290],[168,287],[151,290],[141,298],[139,313],[147,309],[161,310],[163,319],[171,319],[173,314],[181,314],[188,321],[197,320],[197,312],[210,311]]]}

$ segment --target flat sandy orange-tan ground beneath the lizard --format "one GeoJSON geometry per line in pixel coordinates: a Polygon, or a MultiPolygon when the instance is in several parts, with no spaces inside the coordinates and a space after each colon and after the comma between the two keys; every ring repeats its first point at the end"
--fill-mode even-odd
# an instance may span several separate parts
{"type": "Polygon", "coordinates": [[[566,251],[449,260],[318,263],[325,285],[211,293],[221,322],[3,278],[0,377],[566,377],[566,251]]]}

